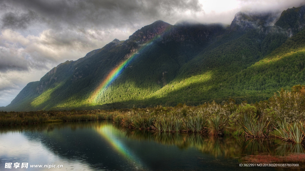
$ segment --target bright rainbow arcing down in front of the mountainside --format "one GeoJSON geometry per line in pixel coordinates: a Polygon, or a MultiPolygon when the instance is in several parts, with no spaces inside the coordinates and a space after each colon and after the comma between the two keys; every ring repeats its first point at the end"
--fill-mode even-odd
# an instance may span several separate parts
{"type": "Polygon", "coordinates": [[[97,104],[99,96],[107,89],[111,83],[117,79],[117,77],[124,71],[124,69],[143,51],[148,49],[152,44],[154,44],[155,40],[160,38],[164,33],[168,32],[170,30],[170,26],[167,27],[162,34],[159,34],[155,37],[153,37],[151,40],[149,40],[147,43],[143,44],[141,48],[138,51],[135,51],[128,59],[125,61],[122,61],[120,65],[118,65],[116,68],[114,68],[107,76],[106,78],[99,84],[99,86],[94,90],[92,95],[89,97],[89,101],[91,101],[91,104],[97,104]]]}

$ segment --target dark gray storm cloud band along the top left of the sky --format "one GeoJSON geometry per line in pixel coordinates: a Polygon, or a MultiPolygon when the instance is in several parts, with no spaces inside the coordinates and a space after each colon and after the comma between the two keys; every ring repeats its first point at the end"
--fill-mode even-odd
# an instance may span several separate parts
{"type": "Polygon", "coordinates": [[[2,4],[7,9],[1,19],[2,27],[11,29],[26,28],[36,20],[53,29],[121,27],[164,16],[175,18],[181,11],[202,11],[198,0],[9,0],[2,4]]]}

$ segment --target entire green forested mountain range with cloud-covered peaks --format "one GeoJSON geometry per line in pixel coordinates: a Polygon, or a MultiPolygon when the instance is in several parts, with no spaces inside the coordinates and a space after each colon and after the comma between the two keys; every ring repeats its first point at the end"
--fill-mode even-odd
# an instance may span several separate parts
{"type": "Polygon", "coordinates": [[[161,20],[30,82],[0,110],[70,110],[266,100],[304,84],[305,7],[239,12],[230,26],[161,20]]]}

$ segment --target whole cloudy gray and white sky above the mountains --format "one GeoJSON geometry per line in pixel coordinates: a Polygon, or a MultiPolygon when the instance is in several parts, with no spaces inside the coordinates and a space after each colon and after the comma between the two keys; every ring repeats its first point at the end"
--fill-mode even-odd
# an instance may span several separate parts
{"type": "Polygon", "coordinates": [[[304,0],[0,0],[0,106],[51,68],[163,20],[230,24],[239,11],[279,12],[304,0]]]}

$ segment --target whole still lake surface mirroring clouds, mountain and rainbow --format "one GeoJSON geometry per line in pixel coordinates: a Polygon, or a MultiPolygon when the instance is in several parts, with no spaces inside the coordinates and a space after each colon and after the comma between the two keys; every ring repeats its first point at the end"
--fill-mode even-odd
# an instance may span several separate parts
{"type": "Polygon", "coordinates": [[[303,170],[239,166],[247,155],[292,152],[304,148],[276,139],[129,130],[109,121],[0,127],[0,170],[303,170]],[[7,162],[29,166],[4,169],[7,162]],[[47,164],[63,168],[30,168],[47,164]]]}

